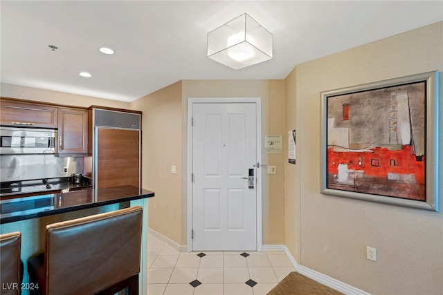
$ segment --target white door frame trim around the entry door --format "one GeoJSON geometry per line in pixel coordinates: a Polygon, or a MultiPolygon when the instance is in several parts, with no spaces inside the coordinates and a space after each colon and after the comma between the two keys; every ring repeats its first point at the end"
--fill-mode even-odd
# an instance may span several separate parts
{"type": "MultiPolygon", "coordinates": [[[[260,97],[188,97],[188,252],[192,251],[192,109],[193,104],[235,104],[235,103],[248,103],[255,104],[255,127],[256,127],[256,135],[257,135],[257,162],[262,164],[262,100],[260,97]]],[[[263,203],[263,192],[262,192],[262,169],[255,169],[256,171],[256,184],[257,184],[257,207],[256,207],[256,231],[257,231],[257,251],[262,251],[262,239],[263,239],[263,231],[262,231],[262,203],[263,203]]]]}

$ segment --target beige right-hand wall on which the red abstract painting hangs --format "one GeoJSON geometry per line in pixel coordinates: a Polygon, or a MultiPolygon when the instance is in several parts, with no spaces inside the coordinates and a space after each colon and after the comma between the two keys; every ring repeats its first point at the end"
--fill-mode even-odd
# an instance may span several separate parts
{"type": "MultiPolygon", "coordinates": [[[[286,164],[286,232],[298,263],[372,294],[443,294],[443,210],[319,193],[320,92],[431,70],[443,70],[443,22],[300,64],[287,77],[286,129],[297,129],[298,162],[286,164]],[[366,246],[377,248],[376,263],[366,246]]],[[[439,166],[443,204],[442,157],[439,166]]]]}

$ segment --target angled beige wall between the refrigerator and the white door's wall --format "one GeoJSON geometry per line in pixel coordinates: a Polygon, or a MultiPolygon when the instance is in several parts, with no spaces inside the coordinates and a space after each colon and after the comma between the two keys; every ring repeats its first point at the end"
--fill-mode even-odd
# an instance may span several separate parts
{"type": "Polygon", "coordinates": [[[149,226],[181,244],[181,82],[132,102],[143,111],[142,187],[149,201],[149,226]],[[177,166],[177,174],[171,166],[177,166]]]}

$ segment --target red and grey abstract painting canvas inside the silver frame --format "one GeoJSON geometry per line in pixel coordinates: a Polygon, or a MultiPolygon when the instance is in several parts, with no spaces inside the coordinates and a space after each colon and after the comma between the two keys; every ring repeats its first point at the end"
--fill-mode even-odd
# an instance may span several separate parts
{"type": "Polygon", "coordinates": [[[327,188],[426,202],[426,82],[327,97],[327,188]]]}

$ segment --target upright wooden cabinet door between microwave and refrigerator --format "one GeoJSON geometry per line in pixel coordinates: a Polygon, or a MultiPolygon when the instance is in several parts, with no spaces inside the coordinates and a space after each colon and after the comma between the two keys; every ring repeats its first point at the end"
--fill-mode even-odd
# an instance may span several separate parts
{"type": "Polygon", "coordinates": [[[59,155],[88,153],[88,111],[58,109],[59,155]]]}

